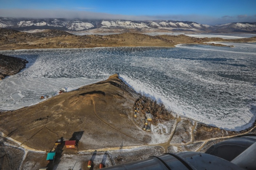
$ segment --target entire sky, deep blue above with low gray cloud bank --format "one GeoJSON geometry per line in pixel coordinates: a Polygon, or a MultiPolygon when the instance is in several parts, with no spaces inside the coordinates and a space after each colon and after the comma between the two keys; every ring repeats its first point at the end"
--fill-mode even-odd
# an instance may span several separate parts
{"type": "Polygon", "coordinates": [[[256,0],[0,0],[0,16],[256,22],[256,0]]]}

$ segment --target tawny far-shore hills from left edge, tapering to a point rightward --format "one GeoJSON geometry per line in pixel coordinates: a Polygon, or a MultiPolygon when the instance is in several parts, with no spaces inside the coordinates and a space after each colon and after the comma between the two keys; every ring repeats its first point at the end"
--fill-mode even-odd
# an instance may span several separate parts
{"type": "Polygon", "coordinates": [[[65,31],[46,30],[42,33],[21,33],[0,29],[0,50],[34,49],[34,48],[85,48],[85,47],[119,47],[119,46],[167,46],[164,42],[149,35],[125,33],[113,35],[77,36],[65,31]],[[2,33],[1,33],[2,32],[2,33]]]}

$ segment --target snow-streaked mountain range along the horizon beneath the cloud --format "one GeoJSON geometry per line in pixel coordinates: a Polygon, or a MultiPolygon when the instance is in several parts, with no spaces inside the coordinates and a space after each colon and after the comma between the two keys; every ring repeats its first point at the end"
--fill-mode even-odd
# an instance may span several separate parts
{"type": "Polygon", "coordinates": [[[133,20],[66,20],[64,18],[10,18],[0,17],[0,27],[15,30],[59,29],[81,31],[89,29],[166,29],[172,31],[219,31],[219,32],[256,32],[256,22],[205,25],[192,21],[133,21],[133,20]]]}

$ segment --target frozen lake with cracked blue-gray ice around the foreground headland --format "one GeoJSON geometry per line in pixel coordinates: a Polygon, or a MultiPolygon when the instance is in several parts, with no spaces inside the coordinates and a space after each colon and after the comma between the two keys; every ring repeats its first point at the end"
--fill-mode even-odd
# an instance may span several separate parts
{"type": "Polygon", "coordinates": [[[1,51],[27,68],[0,81],[0,110],[34,105],[118,73],[137,92],[180,115],[224,129],[248,128],[256,110],[256,43],[1,51]]]}

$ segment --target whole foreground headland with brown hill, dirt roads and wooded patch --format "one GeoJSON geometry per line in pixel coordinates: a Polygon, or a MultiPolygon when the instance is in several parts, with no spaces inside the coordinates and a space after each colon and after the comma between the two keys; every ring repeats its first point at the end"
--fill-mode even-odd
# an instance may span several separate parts
{"type": "Polygon", "coordinates": [[[225,131],[181,117],[136,93],[118,75],[42,100],[0,113],[0,169],[87,169],[89,160],[98,169],[99,163],[112,166],[165,152],[204,152],[227,138],[256,133],[255,124],[225,131]],[[76,140],[77,148],[56,147],[58,139],[76,140]],[[57,156],[48,163],[51,150],[57,156]]]}

